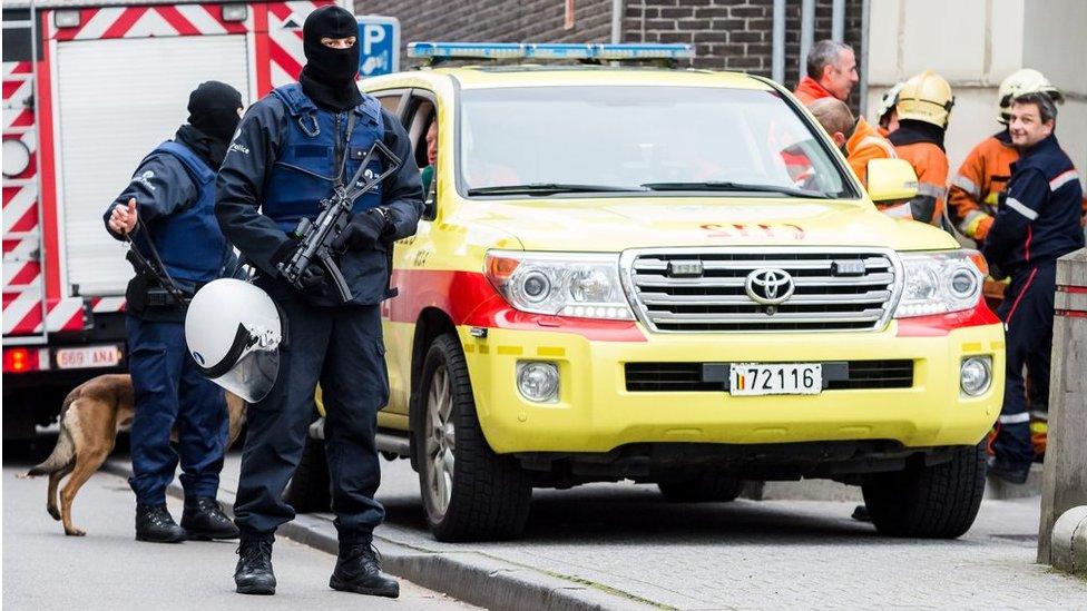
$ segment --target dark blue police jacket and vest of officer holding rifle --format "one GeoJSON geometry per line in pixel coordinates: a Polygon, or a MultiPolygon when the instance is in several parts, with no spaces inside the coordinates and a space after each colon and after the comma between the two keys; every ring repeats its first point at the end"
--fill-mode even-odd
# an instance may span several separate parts
{"type": "MultiPolygon", "coordinates": [[[[297,83],[277,88],[242,118],[219,168],[215,213],[226,237],[261,270],[258,283],[273,298],[287,298],[294,290],[280,277],[273,259],[290,245],[287,233],[297,220],[315,219],[319,203],[332,196],[341,175],[336,151],[346,151],[342,173],[346,181],[379,138],[403,164],[354,205],[355,213],[384,207],[392,225],[389,245],[349,250],[339,262],[352,293],[350,303],[356,305],[378,304],[390,296],[391,242],[413,235],[422,214],[422,184],[403,125],[365,93],[362,105],[337,112],[316,106],[297,83]],[[350,138],[349,122],[353,124],[350,138]]],[[[375,161],[371,170],[382,168],[375,161]]],[[[331,287],[306,298],[316,305],[339,304],[331,287]]]]}

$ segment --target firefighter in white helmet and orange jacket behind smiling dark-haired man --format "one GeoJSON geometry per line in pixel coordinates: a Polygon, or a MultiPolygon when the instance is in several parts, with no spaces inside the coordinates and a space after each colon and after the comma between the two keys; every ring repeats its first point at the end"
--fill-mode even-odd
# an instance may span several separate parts
{"type": "MultiPolygon", "coordinates": [[[[986,138],[959,166],[948,191],[948,213],[954,226],[979,247],[985,243],[997,215],[997,200],[1008,185],[1011,164],[1019,159],[1018,149],[1008,132],[1011,101],[1027,93],[1046,93],[1057,104],[1064,95],[1038,70],[1024,68],[1000,83],[1000,116],[1003,129],[986,138]]],[[[1084,201],[1087,213],[1087,200],[1084,201]]]]}

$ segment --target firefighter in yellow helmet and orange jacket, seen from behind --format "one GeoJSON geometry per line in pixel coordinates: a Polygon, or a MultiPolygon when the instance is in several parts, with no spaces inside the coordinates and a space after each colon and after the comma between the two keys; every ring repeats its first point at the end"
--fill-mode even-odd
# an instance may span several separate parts
{"type": "Polygon", "coordinates": [[[943,136],[954,96],[940,75],[926,70],[905,81],[894,110],[899,128],[888,136],[898,156],[913,166],[918,195],[910,200],[914,220],[940,225],[947,199],[948,156],[943,136]]]}

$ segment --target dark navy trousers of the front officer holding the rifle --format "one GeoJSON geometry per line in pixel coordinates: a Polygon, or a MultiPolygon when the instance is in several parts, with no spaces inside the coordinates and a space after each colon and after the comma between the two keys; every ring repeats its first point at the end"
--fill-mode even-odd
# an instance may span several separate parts
{"type": "Polygon", "coordinates": [[[320,381],[335,526],[341,541],[370,541],[385,514],[373,497],[378,410],[389,401],[379,306],[320,307],[300,294],[276,303],[288,344],[268,396],[248,408],[235,521],[243,536],[264,536],[294,519],[283,490],[302,457],[320,381]]]}

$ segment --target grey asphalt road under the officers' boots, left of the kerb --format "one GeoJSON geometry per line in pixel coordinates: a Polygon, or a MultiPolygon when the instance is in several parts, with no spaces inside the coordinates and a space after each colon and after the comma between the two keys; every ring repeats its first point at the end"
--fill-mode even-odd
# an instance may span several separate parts
{"type": "MultiPolygon", "coordinates": [[[[91,477],[74,507],[76,525],[88,534],[65,536],[60,523],[46,513],[46,480],[17,479],[29,464],[25,456],[4,456],[4,609],[471,608],[405,581],[396,601],[336,592],[329,588],[335,558],[282,538],[272,558],[276,595],[244,597],[234,592],[236,542],[135,541],[134,496],[121,477],[91,477]]],[[[180,502],[170,497],[169,505],[179,520],[180,502]]]]}

